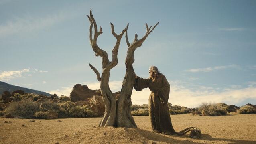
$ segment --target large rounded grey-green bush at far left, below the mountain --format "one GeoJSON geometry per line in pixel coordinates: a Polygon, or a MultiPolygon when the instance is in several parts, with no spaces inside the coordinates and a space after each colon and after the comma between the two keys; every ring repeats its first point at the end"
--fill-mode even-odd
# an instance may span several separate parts
{"type": "Polygon", "coordinates": [[[28,99],[10,103],[6,113],[17,118],[33,118],[35,112],[39,111],[39,104],[28,99]]]}

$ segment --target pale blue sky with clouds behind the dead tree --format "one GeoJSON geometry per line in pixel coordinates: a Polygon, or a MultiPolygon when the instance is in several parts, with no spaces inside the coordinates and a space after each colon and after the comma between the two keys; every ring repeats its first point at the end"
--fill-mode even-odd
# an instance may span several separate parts
{"type": "MultiPolygon", "coordinates": [[[[155,65],[171,84],[169,102],[256,104],[256,1],[253,0],[0,0],[0,81],[58,95],[81,83],[99,89],[88,63],[101,70],[89,44],[90,8],[103,34],[98,45],[111,56],[116,33],[129,23],[130,42],[160,24],[135,51],[134,70],[148,77],[155,65]]],[[[127,45],[110,71],[120,91],[127,45]]],[[[111,57],[110,57],[111,59],[111,57]]],[[[148,103],[149,90],[134,91],[134,104],[148,103]]]]}

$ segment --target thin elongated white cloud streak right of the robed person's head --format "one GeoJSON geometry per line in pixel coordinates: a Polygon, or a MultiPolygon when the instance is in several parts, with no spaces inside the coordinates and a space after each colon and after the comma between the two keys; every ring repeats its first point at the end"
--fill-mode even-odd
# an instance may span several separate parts
{"type": "Polygon", "coordinates": [[[215,66],[215,67],[206,67],[206,68],[198,68],[198,69],[189,69],[187,72],[196,73],[196,72],[210,72],[219,69],[227,69],[227,68],[239,68],[238,65],[226,65],[226,66],[215,66]]]}

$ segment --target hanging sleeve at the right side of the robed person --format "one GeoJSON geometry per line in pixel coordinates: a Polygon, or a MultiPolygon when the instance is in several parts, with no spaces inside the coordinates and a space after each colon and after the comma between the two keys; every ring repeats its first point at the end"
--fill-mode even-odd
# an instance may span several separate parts
{"type": "Polygon", "coordinates": [[[170,84],[168,83],[167,79],[163,75],[162,77],[163,87],[158,89],[158,96],[161,100],[161,103],[165,104],[168,102],[169,94],[170,94],[170,84]]]}

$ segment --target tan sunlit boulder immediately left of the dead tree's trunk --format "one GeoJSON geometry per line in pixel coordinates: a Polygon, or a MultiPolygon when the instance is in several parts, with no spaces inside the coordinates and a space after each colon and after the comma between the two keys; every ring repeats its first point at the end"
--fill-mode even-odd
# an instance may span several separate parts
{"type": "Polygon", "coordinates": [[[93,110],[93,112],[97,113],[98,116],[103,116],[104,115],[105,105],[104,105],[104,102],[103,102],[101,96],[94,95],[90,99],[89,103],[91,105],[91,109],[93,110]]]}

